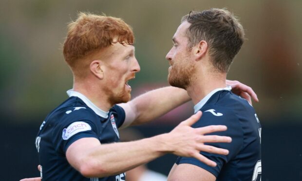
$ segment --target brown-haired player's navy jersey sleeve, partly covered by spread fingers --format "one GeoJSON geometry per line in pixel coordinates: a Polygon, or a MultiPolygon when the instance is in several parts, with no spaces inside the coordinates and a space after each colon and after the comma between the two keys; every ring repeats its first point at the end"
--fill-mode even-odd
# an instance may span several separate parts
{"type": "Polygon", "coordinates": [[[243,130],[242,126],[232,110],[221,108],[221,107],[208,107],[203,108],[203,115],[198,122],[196,122],[192,127],[206,127],[210,125],[225,125],[227,126],[227,131],[214,132],[208,135],[219,135],[219,136],[229,136],[232,138],[231,143],[206,143],[205,145],[212,145],[218,148],[224,148],[229,150],[228,155],[218,155],[207,152],[200,152],[202,155],[208,159],[217,163],[216,167],[208,166],[205,163],[200,162],[195,158],[188,157],[178,157],[176,164],[189,163],[199,166],[213,175],[218,176],[220,170],[225,163],[228,163],[232,158],[234,158],[240,151],[243,145],[243,130]]]}

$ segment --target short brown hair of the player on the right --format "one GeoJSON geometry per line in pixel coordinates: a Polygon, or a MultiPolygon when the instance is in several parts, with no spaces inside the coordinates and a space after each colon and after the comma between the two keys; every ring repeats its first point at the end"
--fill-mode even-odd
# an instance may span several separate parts
{"type": "Polygon", "coordinates": [[[213,66],[227,72],[245,40],[245,31],[239,20],[226,8],[212,8],[202,12],[191,11],[181,22],[188,21],[188,48],[202,40],[208,43],[213,66]]]}

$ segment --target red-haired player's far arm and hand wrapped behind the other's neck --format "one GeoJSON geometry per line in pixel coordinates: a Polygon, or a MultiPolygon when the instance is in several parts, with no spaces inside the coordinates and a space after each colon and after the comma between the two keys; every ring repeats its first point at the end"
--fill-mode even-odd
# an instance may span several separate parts
{"type": "MultiPolygon", "coordinates": [[[[238,82],[227,80],[232,91],[243,96],[251,103],[252,98],[258,102],[257,95],[248,86],[238,82]]],[[[144,93],[128,103],[119,104],[126,112],[126,121],[122,127],[139,125],[149,122],[186,102],[191,98],[186,90],[165,87],[144,93]]]]}

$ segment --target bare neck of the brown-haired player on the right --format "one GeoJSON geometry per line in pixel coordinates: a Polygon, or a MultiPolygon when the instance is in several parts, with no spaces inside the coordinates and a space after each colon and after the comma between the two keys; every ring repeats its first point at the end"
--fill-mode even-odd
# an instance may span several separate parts
{"type": "Polygon", "coordinates": [[[226,73],[207,72],[204,75],[198,75],[196,77],[198,78],[193,79],[187,88],[188,94],[191,97],[194,105],[200,102],[212,90],[227,87],[226,73]]]}

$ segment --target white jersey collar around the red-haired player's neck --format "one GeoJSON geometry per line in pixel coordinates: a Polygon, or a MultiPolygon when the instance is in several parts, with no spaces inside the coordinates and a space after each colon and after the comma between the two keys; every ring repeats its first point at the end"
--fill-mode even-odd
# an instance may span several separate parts
{"type": "Polygon", "coordinates": [[[73,89],[67,90],[67,95],[69,97],[75,96],[80,98],[90,109],[92,109],[95,114],[103,117],[103,118],[108,118],[108,113],[102,109],[99,109],[97,106],[94,105],[85,95],[81,94],[80,92],[74,91],[73,89]]]}

